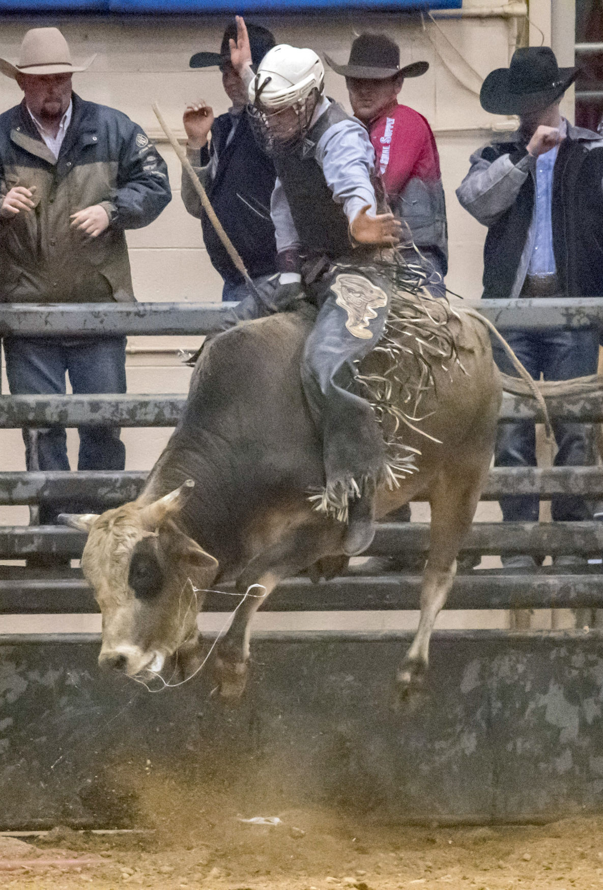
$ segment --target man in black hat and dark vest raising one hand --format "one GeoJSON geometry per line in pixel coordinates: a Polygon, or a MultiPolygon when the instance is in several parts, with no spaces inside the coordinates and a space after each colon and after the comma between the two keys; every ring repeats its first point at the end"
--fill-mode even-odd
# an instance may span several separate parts
{"type": "MultiPolygon", "coordinates": [[[[275,45],[267,28],[248,25],[253,65],[275,45]]],[[[230,62],[230,40],[237,39],[237,23],[224,32],[220,53],[196,53],[191,68],[219,65],[222,85],[232,107],[215,120],[205,102],[187,106],[183,122],[189,142],[187,154],[229,239],[257,283],[276,271],[277,247],[270,219],[270,195],[276,173],[272,161],[256,142],[247,115],[247,88],[230,62]],[[208,135],[212,134],[210,144],[208,135]]],[[[248,291],[193,189],[182,172],[182,200],[189,214],[201,220],[203,238],[214,269],[224,279],[223,300],[244,299],[248,291]]]]}

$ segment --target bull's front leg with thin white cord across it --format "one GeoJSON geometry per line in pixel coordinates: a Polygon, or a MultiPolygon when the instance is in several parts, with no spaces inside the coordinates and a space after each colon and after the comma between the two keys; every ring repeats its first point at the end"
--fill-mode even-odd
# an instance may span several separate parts
{"type": "Polygon", "coordinates": [[[342,553],[343,526],[316,512],[310,522],[288,530],[283,538],[255,556],[237,578],[244,595],[229,630],[217,649],[215,669],[223,698],[237,699],[244,690],[249,663],[253,615],[279,581],[307,569],[326,556],[342,553]]]}

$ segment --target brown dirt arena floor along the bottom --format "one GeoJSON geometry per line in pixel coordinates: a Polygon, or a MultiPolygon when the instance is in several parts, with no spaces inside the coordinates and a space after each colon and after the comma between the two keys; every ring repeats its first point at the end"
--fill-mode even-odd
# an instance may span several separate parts
{"type": "Polygon", "coordinates": [[[603,817],[541,826],[384,827],[326,807],[290,810],[275,826],[240,821],[217,800],[161,813],[142,833],[57,828],[0,837],[0,887],[74,890],[585,890],[603,887],[603,817]]]}

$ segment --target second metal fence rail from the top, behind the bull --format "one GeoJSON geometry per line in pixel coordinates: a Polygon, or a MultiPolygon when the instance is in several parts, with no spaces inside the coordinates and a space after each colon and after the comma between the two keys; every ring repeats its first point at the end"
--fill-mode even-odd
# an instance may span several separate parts
{"type": "MultiPolygon", "coordinates": [[[[175,426],[187,397],[167,395],[14,395],[0,396],[0,429],[21,426],[175,426]]],[[[559,396],[547,399],[551,417],[583,423],[603,421],[603,397],[559,396]]],[[[502,423],[542,422],[533,399],[505,393],[499,415],[502,423]]]]}

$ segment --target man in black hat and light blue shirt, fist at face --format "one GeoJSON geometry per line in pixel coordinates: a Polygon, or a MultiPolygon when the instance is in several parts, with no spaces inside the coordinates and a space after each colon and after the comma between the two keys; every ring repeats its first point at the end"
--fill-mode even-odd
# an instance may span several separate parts
{"type": "MultiPolygon", "coordinates": [[[[486,77],[482,108],[519,115],[517,133],[478,150],[456,190],[462,206],[487,226],[485,297],[603,295],[603,140],[571,125],[559,101],[576,77],[559,69],[548,46],[519,49],[509,69],[486,77]]],[[[535,378],[567,380],[594,374],[599,336],[593,329],[508,331],[505,336],[535,378]]],[[[496,360],[514,374],[497,344],[496,360]]],[[[592,462],[591,428],[557,423],[555,465],[592,462]]],[[[497,466],[535,466],[535,427],[530,422],[499,428],[497,466]]],[[[538,498],[501,500],[505,521],[536,522],[538,498]]],[[[554,520],[591,518],[583,498],[552,498],[554,520]]],[[[563,557],[561,557],[563,559],[563,557]]],[[[531,556],[506,563],[533,566],[531,556]]]]}

